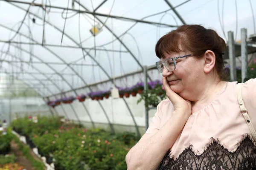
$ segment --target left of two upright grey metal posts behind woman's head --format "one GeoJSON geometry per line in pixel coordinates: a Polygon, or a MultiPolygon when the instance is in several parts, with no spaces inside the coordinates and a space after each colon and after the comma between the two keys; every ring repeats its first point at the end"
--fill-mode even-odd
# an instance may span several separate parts
{"type": "Polygon", "coordinates": [[[230,80],[236,81],[236,56],[233,31],[228,31],[228,53],[230,59],[230,80]]]}

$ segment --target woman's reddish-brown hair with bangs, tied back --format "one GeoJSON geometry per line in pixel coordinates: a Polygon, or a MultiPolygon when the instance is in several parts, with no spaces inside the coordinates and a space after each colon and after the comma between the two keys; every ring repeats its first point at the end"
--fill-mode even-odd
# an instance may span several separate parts
{"type": "Polygon", "coordinates": [[[214,69],[220,79],[226,79],[222,56],[225,48],[225,41],[214,30],[200,25],[183,25],[161,37],[156,44],[155,52],[160,59],[164,58],[164,53],[185,50],[200,58],[205,51],[211,50],[215,54],[214,69]]]}

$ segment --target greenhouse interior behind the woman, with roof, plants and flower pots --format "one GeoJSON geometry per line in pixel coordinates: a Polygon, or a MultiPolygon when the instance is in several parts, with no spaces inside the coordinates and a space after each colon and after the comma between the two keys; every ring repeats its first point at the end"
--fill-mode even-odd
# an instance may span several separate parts
{"type": "Polygon", "coordinates": [[[167,99],[155,45],[182,25],[256,78],[255,0],[0,0],[0,170],[126,170],[167,99]]]}

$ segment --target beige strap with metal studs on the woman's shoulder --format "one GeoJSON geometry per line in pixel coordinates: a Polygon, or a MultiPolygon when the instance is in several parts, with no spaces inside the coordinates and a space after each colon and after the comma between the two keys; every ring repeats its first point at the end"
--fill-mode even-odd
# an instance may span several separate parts
{"type": "Polygon", "coordinates": [[[243,83],[239,83],[239,84],[236,85],[239,106],[240,106],[242,115],[244,116],[244,119],[245,119],[247,125],[249,126],[249,129],[250,129],[250,132],[253,136],[253,139],[254,139],[254,141],[256,141],[256,131],[253,127],[253,124],[252,124],[252,122],[250,120],[250,117],[248,115],[248,111],[246,110],[245,105],[244,105],[244,101],[242,99],[242,94],[241,94],[242,86],[243,86],[243,83]]]}

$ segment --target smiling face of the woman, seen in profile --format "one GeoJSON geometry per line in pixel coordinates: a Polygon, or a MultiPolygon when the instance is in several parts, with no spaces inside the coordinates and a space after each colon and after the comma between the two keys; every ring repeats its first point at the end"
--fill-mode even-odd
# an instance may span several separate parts
{"type": "MultiPolygon", "coordinates": [[[[164,61],[169,57],[178,57],[188,55],[185,52],[165,54],[164,61]]],[[[163,77],[166,77],[170,88],[184,99],[192,100],[193,95],[202,87],[204,77],[204,59],[198,59],[194,56],[180,58],[176,60],[176,69],[168,71],[164,66],[163,77]]]]}

